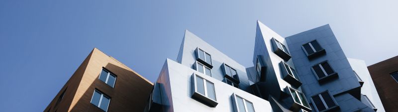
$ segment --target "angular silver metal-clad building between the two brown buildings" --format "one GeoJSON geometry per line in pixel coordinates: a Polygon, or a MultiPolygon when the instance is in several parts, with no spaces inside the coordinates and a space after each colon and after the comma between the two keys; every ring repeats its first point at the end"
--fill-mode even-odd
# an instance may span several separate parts
{"type": "Polygon", "coordinates": [[[244,67],[186,30],[145,112],[385,112],[366,64],[329,25],[284,38],[258,21],[253,54],[244,67]]]}

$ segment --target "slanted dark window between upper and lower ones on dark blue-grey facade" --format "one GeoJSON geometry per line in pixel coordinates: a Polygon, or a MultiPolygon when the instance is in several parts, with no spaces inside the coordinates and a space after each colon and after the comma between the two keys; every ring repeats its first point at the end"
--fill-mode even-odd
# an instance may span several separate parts
{"type": "Polygon", "coordinates": [[[312,66],[312,70],[319,82],[325,81],[326,79],[332,77],[337,77],[337,73],[334,72],[327,61],[312,66]]]}

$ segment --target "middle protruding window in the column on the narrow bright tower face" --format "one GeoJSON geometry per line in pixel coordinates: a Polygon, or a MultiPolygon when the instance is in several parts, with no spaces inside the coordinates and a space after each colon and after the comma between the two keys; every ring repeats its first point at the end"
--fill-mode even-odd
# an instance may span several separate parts
{"type": "Polygon", "coordinates": [[[280,63],[281,71],[282,71],[282,76],[283,80],[288,82],[289,84],[299,87],[301,86],[301,82],[298,79],[298,75],[295,69],[293,69],[291,66],[289,66],[287,63],[281,61],[280,63]]]}

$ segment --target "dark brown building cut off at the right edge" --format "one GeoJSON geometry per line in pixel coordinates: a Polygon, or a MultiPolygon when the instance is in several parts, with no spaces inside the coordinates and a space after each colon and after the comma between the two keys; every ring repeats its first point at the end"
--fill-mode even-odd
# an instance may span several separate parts
{"type": "Polygon", "coordinates": [[[377,93],[387,112],[398,106],[398,56],[368,66],[377,93]]]}

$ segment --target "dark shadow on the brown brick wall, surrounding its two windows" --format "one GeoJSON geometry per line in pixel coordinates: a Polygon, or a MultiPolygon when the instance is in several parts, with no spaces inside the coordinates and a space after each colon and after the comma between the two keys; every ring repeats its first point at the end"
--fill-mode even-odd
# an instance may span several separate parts
{"type": "MultiPolygon", "coordinates": [[[[110,97],[110,103],[107,112],[143,112],[147,98],[152,90],[152,84],[136,75],[134,72],[121,68],[117,65],[108,63],[105,67],[108,71],[116,75],[114,88],[99,80],[100,72],[96,79],[90,85],[81,85],[79,88],[87,88],[84,92],[78,92],[76,95],[82,95],[71,107],[71,112],[104,112],[97,106],[91,104],[91,99],[95,90],[110,97]]],[[[89,69],[89,68],[87,68],[89,69]]],[[[87,70],[86,72],[91,72],[87,70]]],[[[93,70],[101,71],[101,68],[93,70]]],[[[90,75],[90,73],[85,73],[90,75]]],[[[80,79],[85,76],[81,76],[80,79]]],[[[90,77],[90,76],[86,76],[90,77]]],[[[85,81],[82,81],[84,84],[85,81]]],[[[73,96],[74,97],[74,96],[73,96]]]]}

